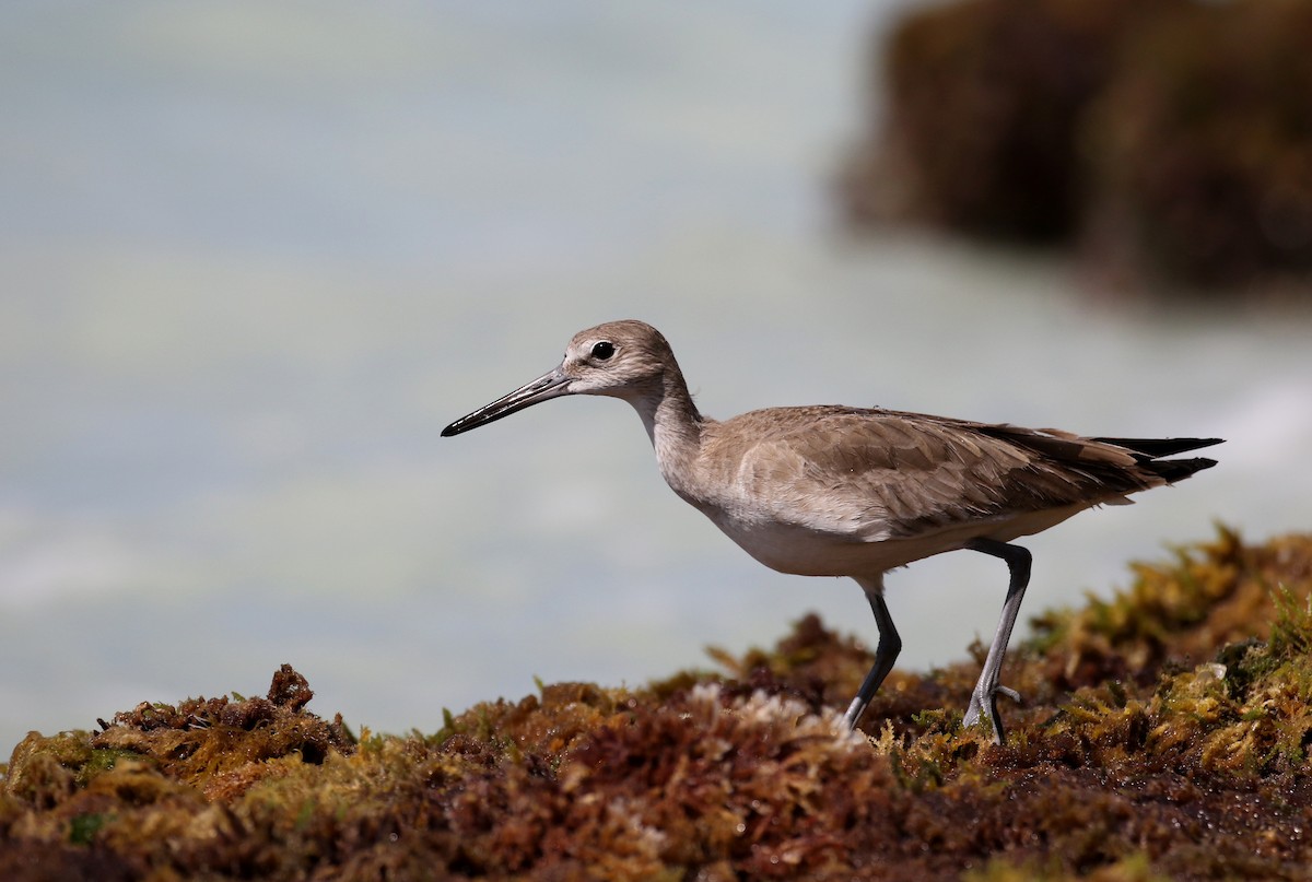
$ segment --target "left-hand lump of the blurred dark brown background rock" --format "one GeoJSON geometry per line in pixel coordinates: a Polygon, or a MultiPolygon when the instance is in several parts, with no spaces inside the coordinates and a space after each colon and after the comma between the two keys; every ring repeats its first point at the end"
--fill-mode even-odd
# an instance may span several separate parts
{"type": "Polygon", "coordinates": [[[871,131],[842,200],[863,223],[913,218],[1060,242],[1084,205],[1081,114],[1127,30],[1187,0],[964,0],[908,14],[878,46],[871,131]]]}

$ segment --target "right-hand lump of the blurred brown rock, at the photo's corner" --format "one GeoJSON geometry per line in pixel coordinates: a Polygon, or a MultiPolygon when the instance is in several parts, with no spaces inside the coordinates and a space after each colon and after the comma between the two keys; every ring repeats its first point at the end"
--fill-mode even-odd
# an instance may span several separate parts
{"type": "Polygon", "coordinates": [[[1312,4],[1185,4],[1128,33],[1082,121],[1098,260],[1312,291],[1312,4]]]}

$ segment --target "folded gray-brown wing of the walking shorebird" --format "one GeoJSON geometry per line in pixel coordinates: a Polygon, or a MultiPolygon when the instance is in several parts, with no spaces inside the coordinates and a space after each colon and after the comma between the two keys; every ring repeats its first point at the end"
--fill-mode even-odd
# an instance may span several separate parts
{"type": "Polygon", "coordinates": [[[1127,452],[1064,432],[851,408],[760,413],[771,425],[739,436],[758,438],[740,458],[741,490],[777,520],[851,538],[918,536],[1160,483],[1135,474],[1127,452]]]}

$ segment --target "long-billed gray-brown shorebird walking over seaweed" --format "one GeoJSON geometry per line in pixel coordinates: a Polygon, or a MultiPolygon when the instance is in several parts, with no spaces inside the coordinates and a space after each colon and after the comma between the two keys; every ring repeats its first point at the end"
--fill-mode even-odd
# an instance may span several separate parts
{"type": "Polygon", "coordinates": [[[850,728],[901,651],[884,602],[884,574],[959,549],[1001,558],[1010,572],[1002,617],[963,718],[966,727],[988,721],[998,744],[1006,735],[997,697],[1019,701],[998,680],[1030,581],[1030,553],[1012,541],[1210,469],[1215,459],[1161,457],[1221,442],[1081,437],[832,404],[712,420],[693,403],[665,337],[634,320],[576,333],[559,366],[462,416],[442,436],[562,395],[632,404],[670,488],[765,566],[857,580],[879,643],[844,717],[850,728]]]}

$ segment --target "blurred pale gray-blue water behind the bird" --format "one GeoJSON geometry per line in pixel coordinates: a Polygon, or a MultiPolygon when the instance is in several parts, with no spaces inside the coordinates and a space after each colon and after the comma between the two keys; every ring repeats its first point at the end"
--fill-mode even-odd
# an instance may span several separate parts
{"type": "MultiPolygon", "coordinates": [[[[639,684],[817,609],[568,399],[441,428],[642,318],[712,416],[849,403],[1219,434],[1221,466],[1029,546],[1029,613],[1130,559],[1307,529],[1312,323],[1090,294],[1055,257],[841,235],[867,42],[905,4],[16,0],[0,29],[0,752],[261,693],[433,730],[639,684]]],[[[893,574],[901,664],[1005,571],[893,574]]]]}

